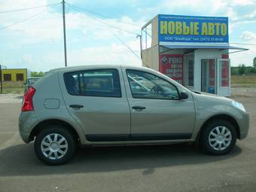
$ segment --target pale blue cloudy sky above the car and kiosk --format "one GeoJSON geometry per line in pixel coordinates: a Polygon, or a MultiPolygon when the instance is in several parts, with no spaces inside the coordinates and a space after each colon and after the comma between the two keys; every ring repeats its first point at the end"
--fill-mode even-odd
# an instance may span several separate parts
{"type": "MultiPolygon", "coordinates": [[[[59,2],[0,1],[0,64],[38,72],[64,66],[59,2]],[[1,13],[43,5],[51,6],[1,13]]],[[[242,43],[232,45],[249,49],[230,54],[231,66],[252,66],[256,56],[256,0],[66,0],[68,66],[142,66],[136,34],[157,14],[229,17],[230,44],[242,43]]]]}

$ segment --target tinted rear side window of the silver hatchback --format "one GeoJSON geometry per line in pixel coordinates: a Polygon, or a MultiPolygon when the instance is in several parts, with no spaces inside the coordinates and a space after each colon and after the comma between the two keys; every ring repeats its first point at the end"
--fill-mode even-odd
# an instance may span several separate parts
{"type": "Polygon", "coordinates": [[[121,97],[120,79],[115,69],[99,69],[64,74],[66,89],[76,96],[121,97]]]}

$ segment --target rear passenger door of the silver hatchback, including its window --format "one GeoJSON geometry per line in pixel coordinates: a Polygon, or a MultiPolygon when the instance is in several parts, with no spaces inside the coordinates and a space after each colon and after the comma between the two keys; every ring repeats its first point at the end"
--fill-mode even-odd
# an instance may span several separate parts
{"type": "Polygon", "coordinates": [[[130,139],[130,108],[120,68],[88,69],[61,76],[66,106],[83,126],[89,142],[130,139]]]}

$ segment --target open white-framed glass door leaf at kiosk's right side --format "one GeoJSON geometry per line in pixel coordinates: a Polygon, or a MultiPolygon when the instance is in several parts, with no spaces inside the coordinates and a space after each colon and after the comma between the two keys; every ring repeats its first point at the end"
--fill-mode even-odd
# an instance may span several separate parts
{"type": "Polygon", "coordinates": [[[230,96],[230,59],[218,59],[218,96],[230,96]]]}

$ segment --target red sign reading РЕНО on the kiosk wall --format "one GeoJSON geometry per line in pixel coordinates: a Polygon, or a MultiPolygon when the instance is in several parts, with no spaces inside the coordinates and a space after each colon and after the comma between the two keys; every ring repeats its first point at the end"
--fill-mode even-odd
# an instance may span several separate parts
{"type": "Polygon", "coordinates": [[[183,83],[183,55],[182,54],[160,54],[159,72],[167,75],[169,78],[183,83]]]}

